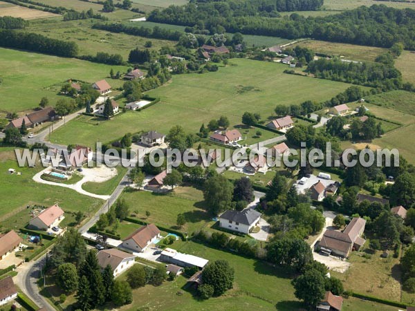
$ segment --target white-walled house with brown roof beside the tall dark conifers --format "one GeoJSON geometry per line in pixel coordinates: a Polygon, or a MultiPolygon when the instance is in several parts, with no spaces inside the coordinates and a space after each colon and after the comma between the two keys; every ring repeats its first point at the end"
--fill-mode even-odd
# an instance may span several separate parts
{"type": "Polygon", "coordinates": [[[103,249],[98,252],[97,258],[102,269],[105,269],[107,265],[111,265],[114,277],[122,274],[136,262],[136,256],[116,248],[103,249]]]}

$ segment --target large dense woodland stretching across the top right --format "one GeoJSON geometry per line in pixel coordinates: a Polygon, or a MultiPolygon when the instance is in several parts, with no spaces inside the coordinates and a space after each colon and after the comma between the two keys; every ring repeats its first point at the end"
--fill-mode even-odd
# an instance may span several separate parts
{"type": "Polygon", "coordinates": [[[214,32],[241,32],[297,39],[314,37],[326,41],[391,47],[403,42],[415,49],[415,10],[374,5],[360,7],[327,17],[302,17],[296,13],[281,19],[259,17],[238,12],[228,3],[214,2],[187,6],[169,6],[154,10],[149,21],[196,26],[214,32]]]}

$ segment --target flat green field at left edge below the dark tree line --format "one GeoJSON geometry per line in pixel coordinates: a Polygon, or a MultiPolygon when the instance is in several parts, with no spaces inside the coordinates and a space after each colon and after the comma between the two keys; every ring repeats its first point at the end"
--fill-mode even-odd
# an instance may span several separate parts
{"type": "Polygon", "coordinates": [[[113,87],[122,86],[122,80],[109,79],[109,71],[127,72],[125,66],[108,66],[70,59],[0,48],[0,68],[3,83],[0,86],[0,110],[25,111],[39,105],[42,97],[54,105],[60,85],[68,79],[93,83],[107,78],[113,87]],[[55,85],[59,84],[59,85],[55,85]]]}

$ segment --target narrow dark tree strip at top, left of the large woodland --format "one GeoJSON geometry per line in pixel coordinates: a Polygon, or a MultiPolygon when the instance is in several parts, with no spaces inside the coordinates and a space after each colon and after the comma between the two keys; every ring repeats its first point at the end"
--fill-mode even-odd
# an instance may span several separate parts
{"type": "Polygon", "coordinates": [[[167,39],[178,41],[183,32],[163,29],[155,26],[153,29],[144,26],[128,26],[122,23],[94,23],[92,28],[107,30],[111,32],[124,32],[127,35],[134,35],[154,39],[167,39]]]}

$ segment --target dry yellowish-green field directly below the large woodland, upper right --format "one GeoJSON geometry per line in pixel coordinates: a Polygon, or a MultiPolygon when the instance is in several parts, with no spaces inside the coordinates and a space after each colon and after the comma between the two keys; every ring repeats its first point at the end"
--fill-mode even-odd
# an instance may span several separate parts
{"type": "Polygon", "coordinates": [[[374,62],[376,57],[387,51],[386,48],[376,48],[374,46],[358,46],[356,44],[341,44],[335,42],[326,42],[319,40],[305,40],[294,46],[302,46],[303,48],[311,48],[316,53],[322,53],[333,56],[343,56],[344,59],[352,59],[358,61],[374,62]]]}

